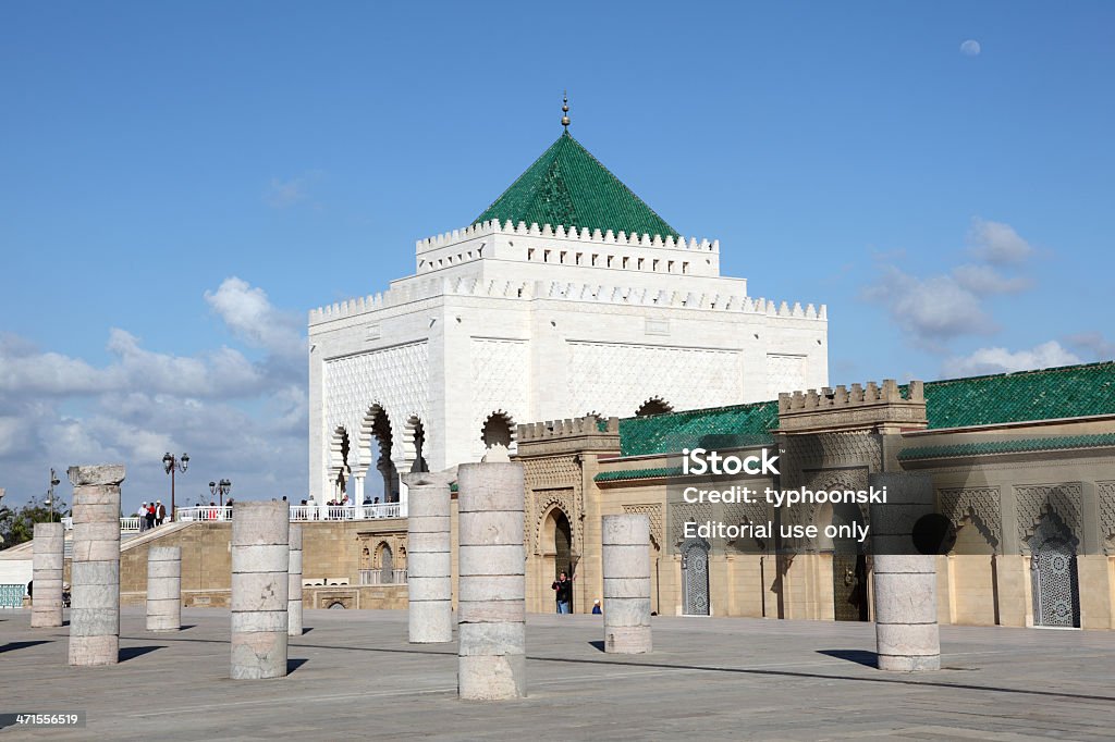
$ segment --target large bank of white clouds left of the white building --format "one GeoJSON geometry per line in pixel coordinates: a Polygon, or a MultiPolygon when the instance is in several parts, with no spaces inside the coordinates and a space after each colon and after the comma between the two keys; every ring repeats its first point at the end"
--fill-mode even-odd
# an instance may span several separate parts
{"type": "Polygon", "coordinates": [[[252,362],[226,346],[159,353],[112,329],[110,360],[95,365],[0,334],[0,471],[10,504],[40,496],[50,467],[109,461],[127,468],[125,509],[167,501],[165,451],[191,456],[177,479],[180,505],[207,501],[210,479],[224,477],[240,498],[304,497],[307,364],[295,315],[240,279],[205,301],[264,358],[252,362]]]}

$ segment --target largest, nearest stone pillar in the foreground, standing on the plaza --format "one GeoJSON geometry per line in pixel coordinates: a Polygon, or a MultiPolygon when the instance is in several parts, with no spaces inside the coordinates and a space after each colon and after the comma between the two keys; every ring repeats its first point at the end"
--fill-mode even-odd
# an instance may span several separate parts
{"type": "Polygon", "coordinates": [[[457,485],[457,693],[474,701],[523,697],[523,465],[464,463],[457,485]]]}

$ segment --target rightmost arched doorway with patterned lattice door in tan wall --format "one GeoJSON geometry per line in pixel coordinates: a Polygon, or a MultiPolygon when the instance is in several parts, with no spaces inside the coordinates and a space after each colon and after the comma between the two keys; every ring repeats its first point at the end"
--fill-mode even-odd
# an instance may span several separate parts
{"type": "Polygon", "coordinates": [[[1077,539],[1060,517],[1047,510],[1030,538],[1030,587],[1035,626],[1080,626],[1077,539]]]}

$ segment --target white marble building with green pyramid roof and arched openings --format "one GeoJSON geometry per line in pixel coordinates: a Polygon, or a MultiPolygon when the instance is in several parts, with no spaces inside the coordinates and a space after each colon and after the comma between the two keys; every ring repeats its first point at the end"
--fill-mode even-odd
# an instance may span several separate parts
{"type": "Polygon", "coordinates": [[[523,422],[826,385],[824,305],[753,297],[719,263],[562,134],[475,223],[418,242],[414,275],[310,312],[311,497],[361,502],[382,476],[405,502],[400,472],[514,448],[523,422]]]}

